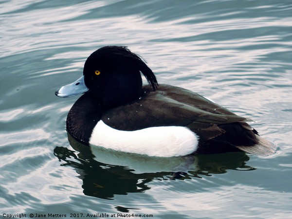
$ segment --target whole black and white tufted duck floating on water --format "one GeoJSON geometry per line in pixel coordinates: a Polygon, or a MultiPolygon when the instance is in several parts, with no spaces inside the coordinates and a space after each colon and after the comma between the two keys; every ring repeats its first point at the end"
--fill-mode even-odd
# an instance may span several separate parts
{"type": "Polygon", "coordinates": [[[97,49],[83,75],[55,91],[58,97],[78,94],[66,130],[90,148],[151,157],[238,151],[268,156],[276,150],[250,119],[193,91],[158,84],[146,61],[126,46],[97,49]]]}

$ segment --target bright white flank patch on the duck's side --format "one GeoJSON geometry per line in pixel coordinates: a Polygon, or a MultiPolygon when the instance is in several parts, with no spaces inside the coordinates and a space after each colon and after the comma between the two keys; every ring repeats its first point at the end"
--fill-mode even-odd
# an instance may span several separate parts
{"type": "Polygon", "coordinates": [[[121,131],[100,120],[92,131],[90,145],[148,156],[173,157],[195,152],[198,140],[199,137],[185,127],[164,126],[121,131]]]}

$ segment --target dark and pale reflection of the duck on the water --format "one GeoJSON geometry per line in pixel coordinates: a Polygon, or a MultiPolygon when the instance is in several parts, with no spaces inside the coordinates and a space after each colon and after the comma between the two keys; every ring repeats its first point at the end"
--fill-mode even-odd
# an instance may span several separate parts
{"type": "Polygon", "coordinates": [[[245,165],[249,157],[244,152],[157,158],[104,148],[91,151],[69,134],[68,140],[79,154],[56,146],[54,155],[66,162],[62,165],[72,166],[80,175],[85,195],[102,199],[143,192],[150,189],[146,184],[153,180],[184,180],[226,173],[228,169],[255,169],[245,165]]]}

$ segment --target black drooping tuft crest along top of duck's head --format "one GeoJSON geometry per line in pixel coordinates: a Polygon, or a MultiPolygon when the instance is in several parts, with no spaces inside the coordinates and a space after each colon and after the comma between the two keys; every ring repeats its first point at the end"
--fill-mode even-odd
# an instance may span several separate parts
{"type": "Polygon", "coordinates": [[[94,53],[92,53],[88,59],[90,60],[91,57],[96,55],[102,56],[103,58],[110,57],[111,59],[119,59],[124,60],[125,62],[131,63],[134,65],[143,75],[146,77],[146,80],[149,85],[152,86],[153,90],[155,91],[158,86],[158,82],[156,76],[152,72],[152,70],[146,65],[146,61],[143,60],[139,55],[132,53],[128,47],[126,46],[105,46],[94,53]]]}

